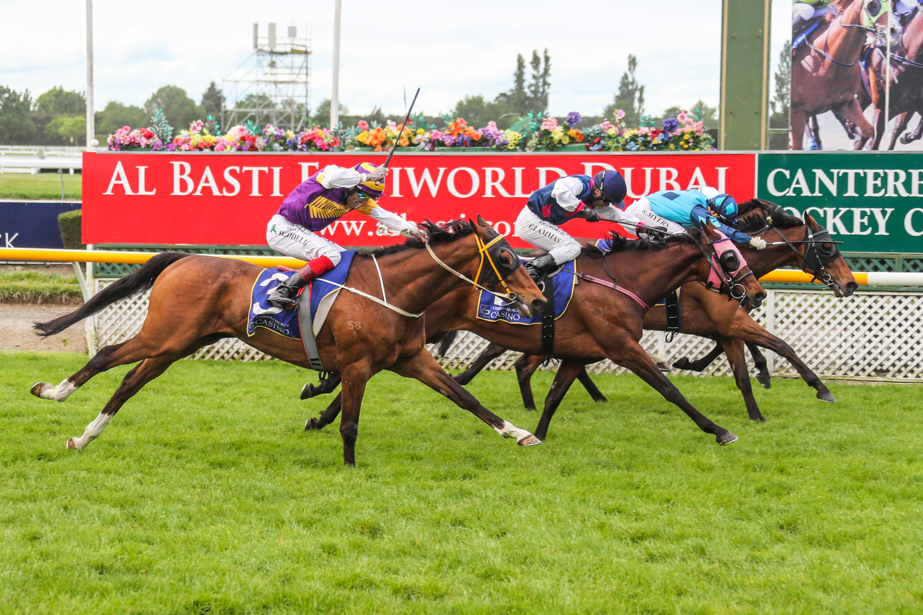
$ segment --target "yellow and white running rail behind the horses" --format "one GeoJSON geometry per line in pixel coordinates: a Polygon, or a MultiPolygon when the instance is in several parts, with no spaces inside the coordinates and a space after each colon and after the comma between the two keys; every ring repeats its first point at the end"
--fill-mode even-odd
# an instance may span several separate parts
{"type": "MultiPolygon", "coordinates": [[[[110,252],[107,250],[52,250],[44,248],[0,248],[0,260],[10,261],[59,261],[62,263],[128,263],[140,265],[160,254],[158,252],[110,252]]],[[[215,258],[236,258],[254,265],[271,267],[287,266],[293,269],[305,265],[305,261],[288,256],[251,256],[248,254],[202,254],[215,258]]],[[[853,276],[861,285],[878,286],[923,286],[923,273],[863,273],[854,271],[853,276]]],[[[776,269],[762,278],[761,282],[809,282],[810,276],[802,271],[776,269]]]]}

